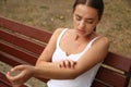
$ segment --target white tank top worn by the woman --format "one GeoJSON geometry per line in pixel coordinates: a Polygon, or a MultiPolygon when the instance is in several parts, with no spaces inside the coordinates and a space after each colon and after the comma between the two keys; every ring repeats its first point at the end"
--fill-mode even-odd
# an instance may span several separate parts
{"type": "MultiPolygon", "coordinates": [[[[59,46],[61,37],[67,30],[68,29],[63,29],[58,37],[57,48],[52,54],[52,62],[59,62],[66,59],[78,61],[91,48],[92,44],[98,38],[96,37],[93,40],[91,40],[82,52],[67,55],[67,53],[59,46]]],[[[92,82],[95,78],[95,75],[100,64],[102,63],[96,64],[94,67],[86,71],[85,73],[83,73],[82,75],[78,76],[74,79],[50,79],[47,83],[47,86],[48,87],[91,87],[92,82]]]]}

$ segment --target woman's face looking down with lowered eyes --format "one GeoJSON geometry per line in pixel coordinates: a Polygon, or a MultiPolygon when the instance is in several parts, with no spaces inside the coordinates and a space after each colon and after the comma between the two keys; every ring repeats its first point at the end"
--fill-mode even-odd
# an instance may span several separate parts
{"type": "Polygon", "coordinates": [[[98,24],[97,10],[85,4],[78,4],[73,13],[73,25],[79,36],[87,36],[98,24]]]}

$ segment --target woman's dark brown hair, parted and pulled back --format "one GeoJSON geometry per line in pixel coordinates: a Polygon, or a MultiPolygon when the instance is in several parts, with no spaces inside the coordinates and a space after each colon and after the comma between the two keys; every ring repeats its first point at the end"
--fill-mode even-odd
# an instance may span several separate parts
{"type": "Polygon", "coordinates": [[[75,0],[73,5],[73,12],[78,4],[86,4],[87,7],[94,8],[98,11],[99,20],[104,13],[104,2],[103,0],[75,0]]]}

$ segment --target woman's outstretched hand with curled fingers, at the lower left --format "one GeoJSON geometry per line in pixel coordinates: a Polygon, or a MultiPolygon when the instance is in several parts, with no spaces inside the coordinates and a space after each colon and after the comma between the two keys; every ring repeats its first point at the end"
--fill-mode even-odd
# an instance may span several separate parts
{"type": "Polygon", "coordinates": [[[7,78],[12,84],[12,87],[21,87],[26,80],[33,76],[34,66],[17,65],[7,73],[7,78]],[[12,75],[19,72],[16,75],[12,75]]]}

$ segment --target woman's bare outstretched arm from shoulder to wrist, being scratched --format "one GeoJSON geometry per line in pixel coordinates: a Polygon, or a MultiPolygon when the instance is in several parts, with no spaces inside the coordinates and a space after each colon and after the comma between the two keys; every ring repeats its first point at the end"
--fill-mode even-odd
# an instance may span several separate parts
{"type": "Polygon", "coordinates": [[[108,53],[109,40],[106,37],[97,39],[90,50],[76,61],[73,69],[61,69],[59,63],[49,62],[50,67],[35,67],[34,76],[55,79],[71,79],[88,71],[102,62],[108,53]],[[39,71],[39,72],[37,72],[39,71]]]}

